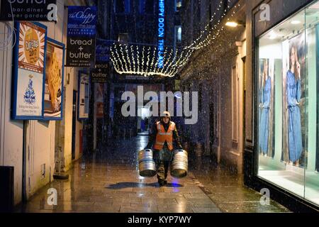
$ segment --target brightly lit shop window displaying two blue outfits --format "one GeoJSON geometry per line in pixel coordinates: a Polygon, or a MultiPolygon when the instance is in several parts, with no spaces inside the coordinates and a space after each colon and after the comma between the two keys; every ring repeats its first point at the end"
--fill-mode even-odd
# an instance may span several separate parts
{"type": "Polygon", "coordinates": [[[319,2],[259,38],[256,75],[258,176],[317,205],[318,47],[319,2]]]}

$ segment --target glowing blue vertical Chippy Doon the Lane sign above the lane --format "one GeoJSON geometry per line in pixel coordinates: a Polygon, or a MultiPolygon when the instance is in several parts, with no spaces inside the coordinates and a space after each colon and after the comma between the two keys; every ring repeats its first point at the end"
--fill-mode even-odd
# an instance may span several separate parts
{"type": "Polygon", "coordinates": [[[165,43],[165,0],[158,1],[158,43],[157,43],[157,67],[164,67],[164,43],[165,43]]]}

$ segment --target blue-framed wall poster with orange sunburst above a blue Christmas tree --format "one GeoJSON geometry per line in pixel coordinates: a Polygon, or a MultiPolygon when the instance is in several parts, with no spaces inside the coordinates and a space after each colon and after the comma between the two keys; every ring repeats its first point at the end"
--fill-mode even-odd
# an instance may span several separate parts
{"type": "Polygon", "coordinates": [[[23,21],[16,29],[13,119],[41,119],[47,27],[23,21]]]}

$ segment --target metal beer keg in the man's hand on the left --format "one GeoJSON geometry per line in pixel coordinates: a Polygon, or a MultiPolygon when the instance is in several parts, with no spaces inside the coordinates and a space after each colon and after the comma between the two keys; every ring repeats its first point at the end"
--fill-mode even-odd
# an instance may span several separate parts
{"type": "Polygon", "coordinates": [[[156,165],[153,160],[153,151],[150,149],[141,150],[138,153],[138,165],[140,176],[154,177],[156,175],[156,165]]]}

